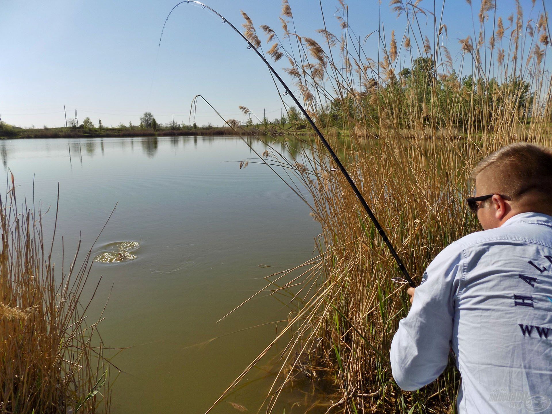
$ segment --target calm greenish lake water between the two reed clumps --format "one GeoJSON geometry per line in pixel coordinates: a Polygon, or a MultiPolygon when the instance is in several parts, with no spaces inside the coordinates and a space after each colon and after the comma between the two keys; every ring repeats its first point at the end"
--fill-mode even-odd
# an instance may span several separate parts
{"type": "MultiPolygon", "coordinates": [[[[124,371],[113,413],[204,412],[275,336],[269,322],[286,319],[285,298],[263,294],[216,322],[266,285],[263,277],[311,258],[320,232],[269,168],[239,168],[256,158],[240,138],[2,140],[0,155],[19,200],[32,197],[34,177],[46,211],[60,183],[57,235],[66,256],[79,232],[89,248],[116,203],[94,255],[110,243],[140,243],[134,260],[94,262],[88,285],[103,275],[92,315],[111,291],[100,324],[105,346],[130,347],[113,358],[124,371]]],[[[45,219],[50,235],[53,215],[45,219]]],[[[256,412],[272,372],[264,360],[213,412],[239,412],[229,402],[256,412]]]]}

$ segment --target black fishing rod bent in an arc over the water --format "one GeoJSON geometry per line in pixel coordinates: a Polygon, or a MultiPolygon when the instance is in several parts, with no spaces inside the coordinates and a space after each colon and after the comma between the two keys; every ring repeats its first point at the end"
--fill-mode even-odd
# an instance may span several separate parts
{"type": "MultiPolygon", "coordinates": [[[[332,160],[333,162],[336,163],[337,165],[337,168],[339,168],[339,170],[343,173],[343,176],[345,177],[345,179],[347,180],[347,182],[349,183],[349,185],[351,185],[351,188],[353,189],[353,192],[354,194],[357,196],[358,200],[360,201],[360,204],[362,204],[362,206],[364,207],[364,210],[366,210],[366,213],[368,214],[368,216],[370,217],[370,220],[374,223],[374,226],[376,227],[376,230],[378,230],[378,233],[379,235],[381,236],[381,238],[383,239],[383,241],[385,242],[385,245],[389,248],[389,251],[391,252],[391,255],[393,256],[393,258],[395,259],[395,262],[397,263],[397,266],[399,266],[399,269],[401,270],[401,273],[402,275],[404,276],[404,279],[406,280],[406,282],[412,287],[412,288],[415,288],[416,287],[416,283],[412,280],[412,278],[410,277],[410,274],[408,274],[408,271],[406,270],[406,267],[405,265],[402,263],[402,260],[401,258],[399,257],[399,254],[397,254],[397,252],[395,251],[395,248],[393,247],[393,245],[391,244],[391,241],[389,240],[389,237],[386,235],[383,227],[381,227],[381,225],[379,224],[379,221],[378,219],[376,219],[376,216],[374,215],[374,213],[372,212],[372,210],[370,209],[370,207],[368,206],[368,203],[366,202],[366,200],[364,199],[363,195],[360,193],[360,190],[358,189],[357,185],[354,183],[353,179],[351,178],[351,176],[349,176],[349,173],[347,172],[347,169],[345,169],[345,167],[343,166],[343,164],[341,163],[341,161],[339,161],[339,158],[337,157],[336,153],[333,151],[332,147],[330,146],[330,144],[328,144],[328,141],[326,141],[326,138],[322,135],[322,132],[318,129],[318,127],[316,126],[316,124],[314,123],[314,121],[312,120],[312,118],[309,116],[309,114],[307,114],[305,108],[303,108],[303,105],[301,105],[301,103],[299,102],[299,100],[295,97],[295,95],[293,94],[293,92],[291,92],[291,90],[289,89],[289,87],[285,84],[285,82],[282,80],[282,78],[280,77],[280,75],[278,75],[278,73],[274,70],[274,68],[272,67],[272,65],[270,65],[270,63],[265,59],[265,57],[261,54],[261,52],[258,51],[257,47],[255,47],[251,41],[249,39],[246,38],[245,35],[243,35],[241,33],[240,30],[238,30],[236,28],[235,25],[233,25],[232,23],[230,23],[222,14],[220,14],[219,12],[217,12],[215,9],[207,6],[206,4],[203,4],[199,1],[195,1],[195,0],[184,0],[180,3],[178,3],[176,6],[174,6],[172,9],[171,9],[171,12],[167,15],[167,18],[165,19],[165,23],[163,24],[163,29],[161,30],[161,36],[159,38],[159,45],[158,46],[161,46],[161,38],[163,37],[163,31],[165,30],[165,25],[167,24],[167,21],[169,19],[169,17],[171,17],[171,14],[173,12],[174,9],[176,9],[178,6],[180,6],[182,3],[186,3],[186,4],[189,4],[189,3],[193,3],[193,4],[198,4],[199,6],[201,6],[203,9],[209,9],[211,10],[211,12],[215,13],[217,16],[219,16],[221,19],[222,19],[222,23],[227,23],[230,25],[230,27],[232,29],[234,29],[236,31],[236,33],[238,35],[241,36],[241,38],[243,40],[245,40],[248,44],[247,46],[247,49],[253,49],[257,55],[261,58],[261,60],[265,63],[265,65],[268,66],[268,69],[270,70],[270,72],[272,72],[272,74],[278,79],[278,81],[282,84],[282,86],[284,87],[285,91],[286,91],[286,94],[288,94],[291,99],[293,99],[293,102],[295,102],[295,104],[299,107],[299,109],[301,110],[301,112],[303,113],[303,115],[305,115],[305,119],[307,121],[309,121],[309,124],[312,126],[312,129],[314,129],[314,131],[316,132],[316,135],[319,136],[320,140],[322,141],[322,144],[326,147],[326,150],[330,153],[330,156],[332,157],[332,160]]],[[[401,280],[400,278],[393,278],[393,280],[395,282],[404,282],[403,280],[401,280]]]]}

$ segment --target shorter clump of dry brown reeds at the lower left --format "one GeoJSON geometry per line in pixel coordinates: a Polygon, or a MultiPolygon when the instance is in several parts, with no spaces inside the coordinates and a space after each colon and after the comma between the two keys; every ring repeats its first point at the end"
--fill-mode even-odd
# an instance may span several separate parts
{"type": "Polygon", "coordinates": [[[14,190],[0,200],[0,412],[109,412],[108,362],[81,300],[90,253],[77,264],[77,247],[55,272],[40,212],[19,212],[14,190]]]}

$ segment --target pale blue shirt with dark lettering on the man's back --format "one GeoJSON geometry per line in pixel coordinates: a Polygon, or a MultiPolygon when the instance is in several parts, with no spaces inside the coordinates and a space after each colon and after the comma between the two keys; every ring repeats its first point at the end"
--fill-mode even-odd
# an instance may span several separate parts
{"type": "Polygon", "coordinates": [[[518,214],[429,264],[391,344],[396,383],[431,383],[451,348],[459,413],[552,413],[551,216],[518,214]]]}

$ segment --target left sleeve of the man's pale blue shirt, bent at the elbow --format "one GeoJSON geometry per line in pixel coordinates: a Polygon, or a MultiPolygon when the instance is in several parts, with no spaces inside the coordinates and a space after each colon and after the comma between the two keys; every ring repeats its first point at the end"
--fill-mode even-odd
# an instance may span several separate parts
{"type": "Polygon", "coordinates": [[[391,370],[401,389],[431,383],[447,367],[461,274],[461,250],[453,243],[429,264],[408,315],[391,343],[391,370]]]}

